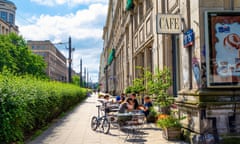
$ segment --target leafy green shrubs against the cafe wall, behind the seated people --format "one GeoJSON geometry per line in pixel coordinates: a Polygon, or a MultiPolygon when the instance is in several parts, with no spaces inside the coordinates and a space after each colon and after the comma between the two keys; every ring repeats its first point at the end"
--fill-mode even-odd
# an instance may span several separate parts
{"type": "Polygon", "coordinates": [[[126,93],[145,92],[147,95],[153,95],[154,102],[162,107],[172,104],[173,97],[168,92],[172,85],[171,72],[168,67],[162,70],[156,69],[154,73],[142,67],[137,67],[137,71],[142,75],[133,80],[133,85],[126,88],[126,93]]]}

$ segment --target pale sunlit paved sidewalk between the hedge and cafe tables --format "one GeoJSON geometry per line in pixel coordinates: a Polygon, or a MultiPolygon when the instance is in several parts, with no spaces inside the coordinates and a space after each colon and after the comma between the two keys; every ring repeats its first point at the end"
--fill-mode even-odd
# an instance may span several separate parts
{"type": "Polygon", "coordinates": [[[117,128],[111,127],[110,134],[92,131],[90,121],[97,114],[96,104],[97,95],[93,94],[42,135],[26,144],[185,144],[163,139],[162,131],[154,124],[146,125],[142,137],[135,140],[124,141],[125,137],[117,128]]]}

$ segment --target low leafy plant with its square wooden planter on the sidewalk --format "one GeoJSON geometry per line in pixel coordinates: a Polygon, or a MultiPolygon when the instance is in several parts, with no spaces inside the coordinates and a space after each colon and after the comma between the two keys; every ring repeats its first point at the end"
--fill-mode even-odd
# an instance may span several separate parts
{"type": "Polygon", "coordinates": [[[157,120],[157,125],[163,130],[163,137],[167,140],[180,139],[181,123],[179,118],[174,115],[163,115],[157,120]]]}

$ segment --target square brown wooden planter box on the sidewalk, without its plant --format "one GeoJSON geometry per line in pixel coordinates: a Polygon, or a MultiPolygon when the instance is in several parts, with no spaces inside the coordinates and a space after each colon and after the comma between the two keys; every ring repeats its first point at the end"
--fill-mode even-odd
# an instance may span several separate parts
{"type": "Polygon", "coordinates": [[[178,140],[181,135],[181,128],[163,128],[162,135],[167,140],[178,140]]]}

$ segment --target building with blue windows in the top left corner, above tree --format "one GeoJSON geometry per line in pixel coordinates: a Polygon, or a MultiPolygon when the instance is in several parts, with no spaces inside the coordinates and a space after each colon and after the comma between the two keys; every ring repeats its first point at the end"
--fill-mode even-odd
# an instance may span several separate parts
{"type": "Polygon", "coordinates": [[[15,13],[17,7],[8,0],[0,0],[0,34],[18,33],[15,25],[15,13]]]}

